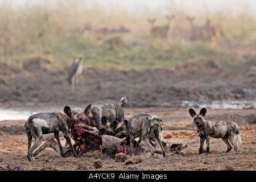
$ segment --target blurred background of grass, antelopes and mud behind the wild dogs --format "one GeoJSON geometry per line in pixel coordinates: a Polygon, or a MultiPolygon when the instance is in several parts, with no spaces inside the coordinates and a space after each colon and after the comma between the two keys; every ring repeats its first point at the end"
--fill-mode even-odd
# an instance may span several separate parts
{"type": "Polygon", "coordinates": [[[142,107],[255,107],[255,10],[249,0],[0,1],[0,106],[127,96],[142,107]],[[78,56],[73,92],[67,69],[78,56]]]}

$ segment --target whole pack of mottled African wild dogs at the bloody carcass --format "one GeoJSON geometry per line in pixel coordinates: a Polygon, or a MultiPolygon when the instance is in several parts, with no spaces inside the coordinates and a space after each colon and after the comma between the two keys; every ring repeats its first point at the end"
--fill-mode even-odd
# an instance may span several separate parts
{"type": "MultiPolygon", "coordinates": [[[[85,107],[84,111],[79,107],[72,110],[71,107],[65,106],[64,113],[51,112],[31,115],[24,125],[28,138],[28,160],[35,160],[35,155],[45,147],[51,147],[55,151],[59,151],[59,154],[63,157],[66,156],[65,152],[67,151],[77,157],[77,146],[75,144],[72,145],[71,138],[74,140],[78,138],[80,143],[87,140],[87,142],[93,144],[93,142],[96,143],[96,140],[88,141],[94,134],[92,131],[96,131],[97,138],[100,139],[102,144],[105,142],[106,146],[110,147],[110,150],[115,151],[115,147],[118,146],[115,143],[119,144],[126,140],[127,146],[129,146],[127,154],[139,155],[137,151],[143,148],[144,152],[150,152],[152,156],[156,153],[162,154],[165,157],[166,151],[163,146],[166,143],[163,142],[162,134],[163,119],[159,118],[158,115],[147,113],[137,113],[130,119],[125,119],[123,107],[126,105],[127,98],[122,97],[115,104],[90,104],[85,107]],[[79,125],[79,123],[84,124],[79,125]],[[84,126],[89,127],[88,133],[86,135],[77,134],[79,137],[75,138],[76,132],[79,131],[77,128],[83,127],[81,131],[84,132],[86,130],[84,126]],[[61,146],[60,131],[63,133],[68,147],[61,146]],[[40,148],[39,145],[43,142],[43,135],[50,133],[54,134],[56,140],[51,138],[50,142],[47,140],[48,144],[46,142],[44,147],[40,148]],[[81,136],[84,136],[85,140],[82,140],[81,136]],[[31,147],[33,138],[35,142],[31,147]],[[51,142],[55,143],[56,146],[51,142]],[[35,151],[38,147],[39,149],[35,151]]],[[[195,110],[189,109],[189,114],[193,118],[193,123],[195,123],[200,137],[199,154],[203,153],[205,140],[207,142],[207,154],[210,154],[210,137],[221,138],[228,147],[226,152],[232,150],[233,147],[234,151],[237,152],[237,145],[241,144],[242,140],[236,123],[229,121],[207,121],[204,119],[207,114],[205,108],[201,109],[199,114],[195,110]],[[234,139],[235,135],[236,141],[234,139]]]]}

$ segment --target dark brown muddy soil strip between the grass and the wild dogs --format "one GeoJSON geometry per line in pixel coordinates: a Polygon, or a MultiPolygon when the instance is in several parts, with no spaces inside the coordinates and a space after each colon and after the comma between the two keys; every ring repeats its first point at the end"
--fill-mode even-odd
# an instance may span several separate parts
{"type": "Polygon", "coordinates": [[[209,60],[192,61],[172,70],[85,68],[81,85],[73,93],[67,71],[50,70],[55,61],[34,57],[24,63],[24,69],[0,62],[0,106],[77,106],[116,102],[121,96],[127,96],[132,107],[175,107],[175,101],[181,100],[255,100],[254,64],[222,69],[209,60]]]}

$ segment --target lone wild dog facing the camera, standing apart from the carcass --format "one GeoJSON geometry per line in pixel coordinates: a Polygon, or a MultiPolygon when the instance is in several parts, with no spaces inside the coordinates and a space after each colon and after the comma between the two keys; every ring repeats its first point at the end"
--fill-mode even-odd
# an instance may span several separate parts
{"type": "Polygon", "coordinates": [[[206,121],[204,119],[206,113],[207,110],[205,108],[201,109],[199,114],[196,114],[195,110],[189,109],[189,114],[194,119],[193,122],[196,124],[197,133],[200,137],[199,154],[203,153],[205,139],[207,140],[207,154],[210,154],[210,137],[221,138],[226,143],[226,146],[228,146],[226,152],[232,150],[233,146],[234,151],[237,153],[237,144],[242,143],[237,123],[230,121],[206,121]],[[237,144],[234,141],[235,134],[237,136],[237,144]]]}

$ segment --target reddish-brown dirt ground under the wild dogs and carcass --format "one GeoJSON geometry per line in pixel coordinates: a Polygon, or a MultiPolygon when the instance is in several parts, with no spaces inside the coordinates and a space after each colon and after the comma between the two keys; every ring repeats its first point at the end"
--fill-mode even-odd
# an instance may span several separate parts
{"type": "MultiPolygon", "coordinates": [[[[81,158],[61,158],[52,149],[44,150],[38,155],[36,162],[28,162],[27,137],[22,133],[25,121],[0,122],[0,166],[14,170],[96,170],[93,161],[101,159],[103,166],[97,170],[256,170],[256,109],[246,110],[208,110],[208,118],[226,119],[237,122],[243,143],[238,147],[240,154],[234,150],[225,154],[226,145],[221,139],[210,139],[211,154],[198,155],[199,137],[193,130],[168,130],[168,126],[183,127],[192,124],[188,108],[183,109],[125,109],[129,118],[138,111],[158,114],[164,119],[164,141],[168,144],[188,142],[188,147],[181,151],[181,155],[171,152],[166,158],[162,155],[148,154],[142,163],[129,164],[115,162],[113,158],[98,152],[88,152],[81,158]],[[250,124],[251,123],[251,124],[250,124]],[[13,131],[13,130],[14,131],[13,131]],[[7,166],[6,166],[7,165],[7,166]]],[[[64,144],[64,138],[61,139],[64,144]]]]}

